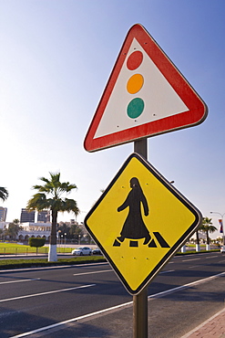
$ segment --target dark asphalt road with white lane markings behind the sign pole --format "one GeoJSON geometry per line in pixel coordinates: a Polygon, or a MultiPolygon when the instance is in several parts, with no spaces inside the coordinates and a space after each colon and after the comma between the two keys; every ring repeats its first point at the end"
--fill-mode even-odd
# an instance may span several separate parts
{"type": "MultiPolygon", "coordinates": [[[[225,255],[220,253],[176,256],[171,259],[148,286],[148,295],[152,297],[148,301],[151,336],[180,337],[181,333],[188,332],[195,324],[197,326],[207,319],[208,315],[210,317],[211,313],[219,311],[224,306],[224,280],[225,255]],[[209,280],[210,276],[221,273],[220,278],[209,280]],[[199,280],[206,281],[191,284],[188,289],[177,289],[199,280]],[[166,293],[166,290],[173,292],[166,293]],[[154,296],[159,292],[164,292],[164,297],[154,296]],[[200,300],[200,297],[203,299],[200,300]],[[200,312],[197,308],[201,309],[200,312]],[[185,327],[182,322],[185,322],[185,327]],[[170,335],[167,334],[169,330],[172,330],[170,335]]],[[[132,296],[107,263],[0,271],[0,290],[1,338],[132,337],[132,307],[128,306],[132,296]],[[121,309],[109,312],[108,320],[103,313],[93,318],[91,316],[93,312],[121,304],[127,306],[121,307],[122,312],[121,309]],[[83,319],[80,318],[82,316],[83,319]],[[77,317],[81,322],[85,320],[86,325],[77,325],[77,317]],[[87,318],[92,322],[91,325],[87,318]],[[69,328],[59,325],[67,320],[71,320],[69,328]],[[120,327],[116,335],[112,333],[115,330],[114,322],[120,327]],[[52,324],[55,325],[54,329],[46,332],[45,327],[52,324]],[[31,334],[33,330],[41,328],[39,333],[31,334]],[[90,335],[91,330],[97,335],[90,335]]]]}

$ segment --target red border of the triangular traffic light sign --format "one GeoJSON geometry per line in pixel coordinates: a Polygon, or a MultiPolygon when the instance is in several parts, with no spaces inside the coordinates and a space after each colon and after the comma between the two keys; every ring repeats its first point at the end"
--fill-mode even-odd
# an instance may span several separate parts
{"type": "Polygon", "coordinates": [[[208,109],[206,104],[199,98],[196,91],[192,89],[187,79],[183,77],[183,75],[179,72],[179,69],[174,66],[168,56],[161,48],[159,48],[159,45],[148,34],[147,30],[143,26],[137,24],[132,26],[128,31],[128,35],[125,38],[124,44],[119,52],[116,64],[107,81],[106,89],[104,90],[101,100],[97,106],[97,111],[87,131],[84,146],[87,152],[95,152],[118,144],[129,143],[138,139],[158,135],[160,133],[176,131],[201,123],[206,119],[207,113],[208,109]],[[140,46],[144,48],[149,58],[151,58],[151,60],[155,63],[160,72],[169,81],[169,84],[189,108],[189,111],[184,111],[158,121],[151,121],[137,127],[107,134],[95,139],[94,136],[97,131],[98,124],[101,121],[107,107],[107,101],[109,100],[117,82],[120,69],[125,62],[128,49],[134,37],[138,40],[140,46]]]}

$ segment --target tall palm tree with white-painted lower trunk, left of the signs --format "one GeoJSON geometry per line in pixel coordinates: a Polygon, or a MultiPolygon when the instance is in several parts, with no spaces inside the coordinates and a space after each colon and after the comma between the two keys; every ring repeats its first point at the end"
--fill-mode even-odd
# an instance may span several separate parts
{"type": "Polygon", "coordinates": [[[74,199],[62,197],[63,194],[69,194],[73,189],[77,189],[77,185],[71,185],[69,182],[60,182],[60,173],[49,173],[50,179],[40,177],[44,185],[34,185],[38,193],[33,195],[27,202],[27,209],[29,210],[50,210],[52,217],[52,228],[50,235],[50,246],[48,252],[48,261],[56,261],[56,225],[58,212],[73,211],[77,216],[79,209],[77,202],[74,199]]]}

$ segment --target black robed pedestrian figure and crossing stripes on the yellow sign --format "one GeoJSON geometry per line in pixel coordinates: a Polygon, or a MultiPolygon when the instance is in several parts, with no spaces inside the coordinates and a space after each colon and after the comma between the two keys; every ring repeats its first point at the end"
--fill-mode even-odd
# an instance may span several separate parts
{"type": "MultiPolygon", "coordinates": [[[[115,239],[113,246],[120,247],[125,238],[128,238],[130,239],[130,247],[138,247],[138,239],[145,238],[143,245],[148,244],[148,248],[157,248],[156,241],[154,238],[151,239],[148,228],[142,217],[141,206],[143,206],[145,217],[149,216],[146,196],[141,189],[137,177],[131,178],[129,183],[131,190],[124,203],[121,206],[118,206],[118,212],[121,212],[128,207],[128,217],[124,222],[120,236],[115,239]]],[[[159,232],[153,232],[153,234],[158,240],[161,248],[169,248],[169,244],[159,232]]]]}

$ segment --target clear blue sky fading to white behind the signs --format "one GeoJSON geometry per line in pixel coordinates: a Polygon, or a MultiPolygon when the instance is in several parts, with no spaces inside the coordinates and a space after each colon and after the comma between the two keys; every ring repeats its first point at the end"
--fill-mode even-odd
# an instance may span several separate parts
{"type": "Polygon", "coordinates": [[[2,204],[7,221],[20,217],[38,177],[56,171],[77,185],[71,197],[83,221],[133,152],[128,143],[87,153],[83,142],[136,23],[209,107],[199,126],[148,139],[148,161],[204,217],[224,213],[224,15],[223,0],[0,0],[0,185],[9,191],[2,204]]]}

